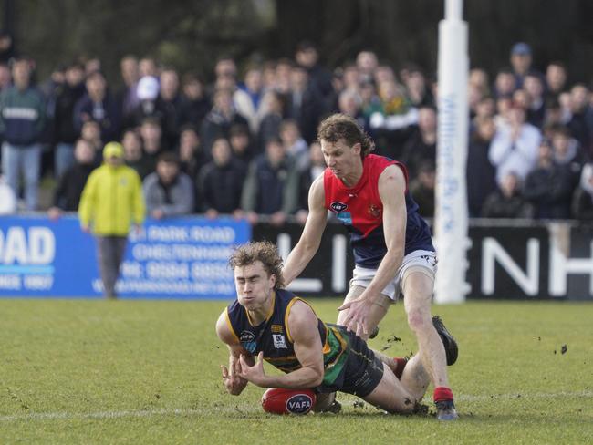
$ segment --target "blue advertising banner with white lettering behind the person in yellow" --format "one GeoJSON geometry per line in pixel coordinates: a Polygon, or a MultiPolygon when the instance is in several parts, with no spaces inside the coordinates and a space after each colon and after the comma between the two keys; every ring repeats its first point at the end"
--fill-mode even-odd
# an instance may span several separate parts
{"type": "MultiPolygon", "coordinates": [[[[118,295],[128,298],[234,298],[226,262],[251,227],[233,219],[149,220],[130,233],[118,295]]],[[[0,296],[99,297],[96,242],[78,218],[0,218],[0,296]]]]}

